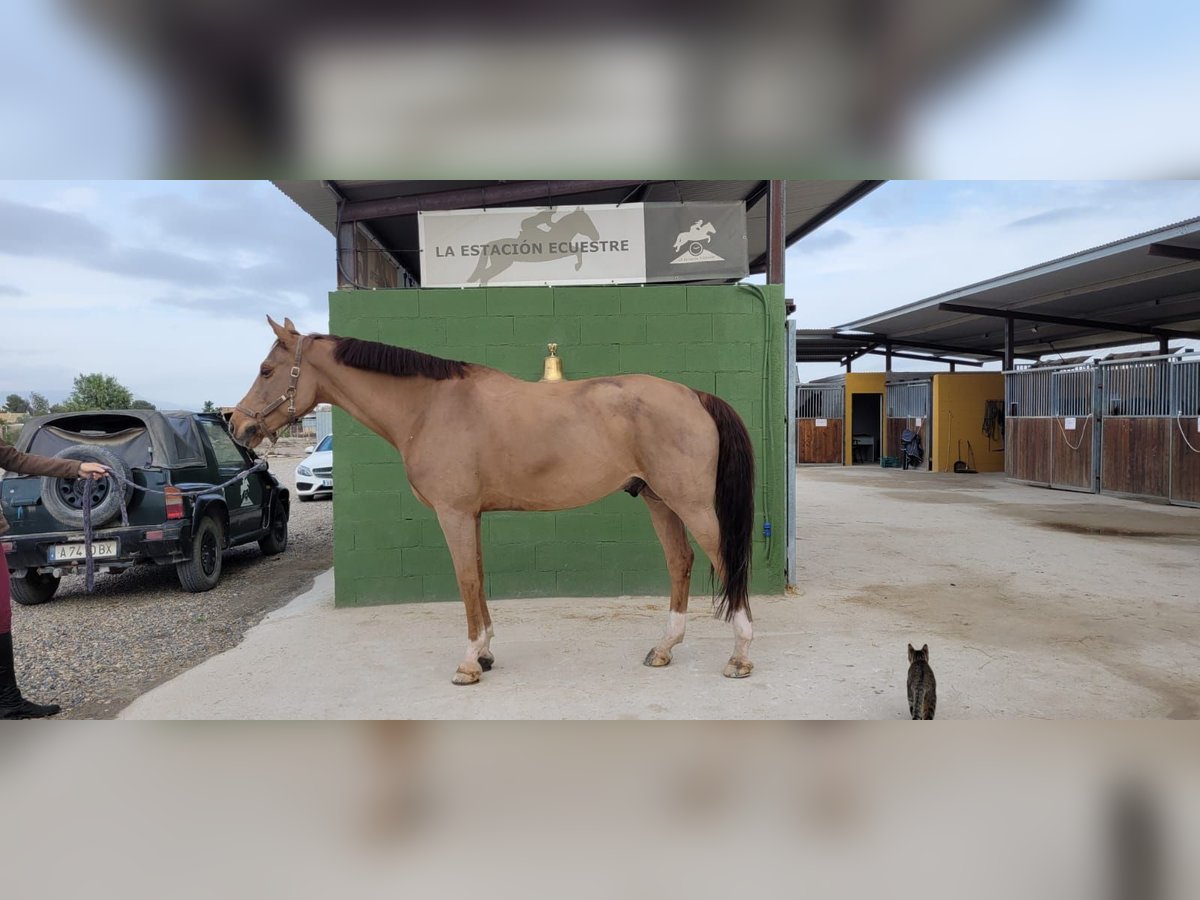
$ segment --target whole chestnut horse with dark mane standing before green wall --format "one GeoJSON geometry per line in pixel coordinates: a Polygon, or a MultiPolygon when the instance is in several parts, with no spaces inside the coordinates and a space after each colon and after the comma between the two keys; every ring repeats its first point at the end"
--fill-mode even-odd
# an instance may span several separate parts
{"type": "Polygon", "coordinates": [[[671,574],[666,631],[644,664],[667,665],[683,640],[690,530],[722,586],[716,612],[733,624],[725,674],[750,674],[754,451],[728,403],[644,374],[523,382],[374,341],[300,335],[290,319],[268,322],[276,341],[229,421],[234,438],[257,446],[332,403],[400,451],[413,493],[438,516],[467,607],[467,655],[455,684],[474,684],[494,661],[480,516],[571,509],[620,490],[646,502],[671,574]]]}

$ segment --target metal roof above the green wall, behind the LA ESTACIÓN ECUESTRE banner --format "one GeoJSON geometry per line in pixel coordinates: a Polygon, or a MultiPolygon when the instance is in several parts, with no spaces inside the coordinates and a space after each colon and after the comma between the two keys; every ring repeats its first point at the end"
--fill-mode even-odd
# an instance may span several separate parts
{"type": "MultiPolygon", "coordinates": [[[[788,181],[787,244],[799,240],[882,181],[788,181]]],[[[317,222],[362,223],[420,281],[419,210],[482,206],[744,200],[750,271],[767,260],[767,181],[275,181],[317,222]]]]}

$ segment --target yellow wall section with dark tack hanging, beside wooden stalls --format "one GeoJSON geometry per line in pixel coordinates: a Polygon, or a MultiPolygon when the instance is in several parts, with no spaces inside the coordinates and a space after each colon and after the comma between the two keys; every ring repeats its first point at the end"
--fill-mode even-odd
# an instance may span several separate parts
{"type": "Polygon", "coordinates": [[[1004,401],[1000,372],[947,372],[934,376],[934,472],[953,472],[962,442],[962,461],[970,463],[967,442],[979,472],[1004,470],[1003,443],[988,443],[983,416],[989,400],[1004,401]]]}

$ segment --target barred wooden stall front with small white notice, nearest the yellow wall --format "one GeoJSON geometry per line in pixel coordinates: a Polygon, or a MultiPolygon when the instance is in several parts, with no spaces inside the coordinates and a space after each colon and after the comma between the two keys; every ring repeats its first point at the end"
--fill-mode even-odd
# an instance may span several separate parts
{"type": "Polygon", "coordinates": [[[1094,365],[1019,368],[1004,373],[1004,474],[1045,487],[1094,493],[1094,365]]]}

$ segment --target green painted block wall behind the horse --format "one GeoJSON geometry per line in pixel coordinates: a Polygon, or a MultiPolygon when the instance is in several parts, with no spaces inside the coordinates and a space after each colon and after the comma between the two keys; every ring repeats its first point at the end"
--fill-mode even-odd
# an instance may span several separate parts
{"type": "MultiPolygon", "coordinates": [[[[330,294],[329,305],[334,334],[480,362],[517,378],[541,377],[553,341],[570,379],[646,372],[722,397],[745,420],[755,446],[751,589],[784,590],[788,354],[781,288],[348,290],[330,294]],[[766,520],[770,540],[763,536],[766,520]]],[[[409,490],[400,455],[341,409],[334,412],[334,433],[337,605],[457,600],[437,518],[409,490]]],[[[625,493],[578,510],[485,514],[482,532],[490,598],[671,592],[646,504],[625,493]]],[[[707,596],[708,565],[695,550],[692,594],[707,596]]]]}

